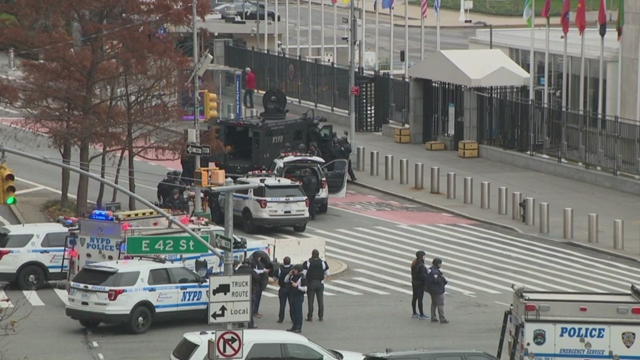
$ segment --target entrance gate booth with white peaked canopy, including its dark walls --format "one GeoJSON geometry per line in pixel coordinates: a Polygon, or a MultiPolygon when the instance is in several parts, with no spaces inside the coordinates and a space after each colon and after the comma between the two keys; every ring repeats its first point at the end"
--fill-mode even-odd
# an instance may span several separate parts
{"type": "Polygon", "coordinates": [[[529,85],[529,72],[501,50],[438,51],[410,67],[408,76],[412,143],[439,141],[458,151],[461,140],[483,140],[479,129],[498,128],[488,124],[529,122],[529,113],[500,106],[500,99],[520,97],[529,85]]]}

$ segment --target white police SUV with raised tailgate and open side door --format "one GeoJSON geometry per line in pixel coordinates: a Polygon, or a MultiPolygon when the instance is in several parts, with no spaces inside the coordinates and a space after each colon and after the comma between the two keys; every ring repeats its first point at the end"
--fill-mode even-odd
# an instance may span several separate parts
{"type": "Polygon", "coordinates": [[[304,170],[311,170],[320,185],[316,194],[316,206],[319,206],[320,213],[326,213],[329,197],[346,197],[347,167],[347,160],[338,159],[324,163],[323,158],[291,152],[273,160],[269,170],[278,176],[296,181],[302,181],[304,170]]]}

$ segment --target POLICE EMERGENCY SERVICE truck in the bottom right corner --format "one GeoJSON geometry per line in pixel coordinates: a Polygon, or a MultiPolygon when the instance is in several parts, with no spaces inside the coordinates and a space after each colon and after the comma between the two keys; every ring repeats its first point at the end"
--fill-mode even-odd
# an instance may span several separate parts
{"type": "Polygon", "coordinates": [[[504,314],[509,360],[640,360],[640,290],[629,293],[528,291],[513,286],[504,314]]]}

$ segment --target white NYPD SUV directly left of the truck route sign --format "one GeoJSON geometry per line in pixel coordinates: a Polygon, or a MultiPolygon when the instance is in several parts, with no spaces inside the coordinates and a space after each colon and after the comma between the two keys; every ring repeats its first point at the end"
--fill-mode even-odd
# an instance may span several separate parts
{"type": "Polygon", "coordinates": [[[209,284],[180,264],[134,258],[86,265],[68,288],[67,316],[95,328],[125,325],[134,334],[152,323],[207,318],[209,284]]]}

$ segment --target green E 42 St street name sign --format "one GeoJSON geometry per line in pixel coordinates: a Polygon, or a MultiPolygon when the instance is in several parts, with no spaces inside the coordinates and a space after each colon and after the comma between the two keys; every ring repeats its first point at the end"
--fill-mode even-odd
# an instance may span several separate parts
{"type": "MultiPolygon", "coordinates": [[[[209,242],[209,235],[200,235],[209,242]]],[[[204,243],[191,235],[127,236],[127,255],[206,254],[204,243]]]]}

